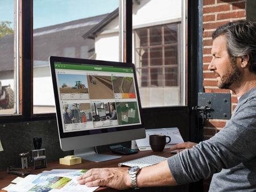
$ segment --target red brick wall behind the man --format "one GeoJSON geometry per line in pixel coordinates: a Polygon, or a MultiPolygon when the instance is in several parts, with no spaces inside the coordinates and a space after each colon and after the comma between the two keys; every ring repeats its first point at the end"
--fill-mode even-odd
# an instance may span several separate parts
{"type": "MultiPolygon", "coordinates": [[[[208,70],[212,60],[210,51],[212,48],[212,32],[221,24],[236,20],[245,20],[246,0],[203,0],[203,86],[206,93],[231,93],[232,112],[237,106],[237,97],[232,91],[218,89],[216,77],[208,70]]],[[[207,140],[220,131],[226,124],[223,119],[210,119],[205,121],[204,139],[207,140]]],[[[210,178],[204,181],[204,191],[209,189],[210,178]]]]}

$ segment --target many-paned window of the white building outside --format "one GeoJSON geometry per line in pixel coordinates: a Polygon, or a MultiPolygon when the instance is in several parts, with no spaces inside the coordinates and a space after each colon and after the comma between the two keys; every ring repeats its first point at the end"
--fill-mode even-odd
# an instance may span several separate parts
{"type": "Polygon", "coordinates": [[[135,57],[141,87],[180,85],[177,25],[135,30],[135,57]]]}

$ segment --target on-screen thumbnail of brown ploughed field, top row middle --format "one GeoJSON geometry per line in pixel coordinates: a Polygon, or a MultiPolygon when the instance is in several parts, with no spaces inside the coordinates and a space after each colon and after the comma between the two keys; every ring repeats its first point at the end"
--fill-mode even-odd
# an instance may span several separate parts
{"type": "Polygon", "coordinates": [[[90,99],[113,99],[111,76],[87,76],[90,99]]]}

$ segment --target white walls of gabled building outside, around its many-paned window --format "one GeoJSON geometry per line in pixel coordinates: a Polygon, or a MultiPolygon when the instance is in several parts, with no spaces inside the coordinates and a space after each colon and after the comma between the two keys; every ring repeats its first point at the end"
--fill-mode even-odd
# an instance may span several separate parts
{"type": "MultiPolygon", "coordinates": [[[[134,30],[181,22],[181,0],[139,0],[140,5],[133,5],[133,63],[137,66],[134,49],[134,30]]],[[[113,19],[107,26],[96,33],[96,60],[119,61],[119,21],[113,19]]],[[[140,81],[137,73],[138,81],[140,81]]],[[[138,82],[140,85],[140,82],[138,82]]],[[[180,86],[139,87],[142,107],[181,105],[180,86]]]]}

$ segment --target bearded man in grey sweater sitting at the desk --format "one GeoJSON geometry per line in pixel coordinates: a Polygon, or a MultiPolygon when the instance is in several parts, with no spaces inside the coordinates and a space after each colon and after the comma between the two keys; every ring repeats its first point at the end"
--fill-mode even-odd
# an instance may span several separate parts
{"type": "MultiPolygon", "coordinates": [[[[213,175],[209,191],[256,189],[256,22],[231,22],[213,32],[212,61],[208,67],[220,89],[239,99],[232,118],[209,140],[177,144],[180,153],[160,164],[142,168],[138,187],[174,186],[213,175]]],[[[86,186],[133,187],[122,169],[92,169],[77,178],[86,186]]]]}

